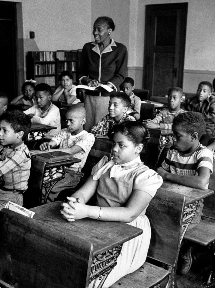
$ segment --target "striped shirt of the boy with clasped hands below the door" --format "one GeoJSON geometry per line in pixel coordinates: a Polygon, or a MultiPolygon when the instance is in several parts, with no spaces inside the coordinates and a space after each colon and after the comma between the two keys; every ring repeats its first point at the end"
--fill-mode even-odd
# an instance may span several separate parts
{"type": "Polygon", "coordinates": [[[171,111],[169,108],[164,108],[150,122],[156,123],[156,124],[160,123],[160,129],[172,129],[173,118],[182,112],[185,112],[185,111],[183,109],[180,109],[179,111],[176,112],[176,111],[171,111]]]}

